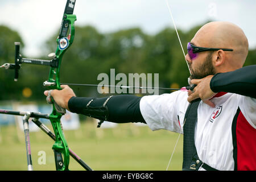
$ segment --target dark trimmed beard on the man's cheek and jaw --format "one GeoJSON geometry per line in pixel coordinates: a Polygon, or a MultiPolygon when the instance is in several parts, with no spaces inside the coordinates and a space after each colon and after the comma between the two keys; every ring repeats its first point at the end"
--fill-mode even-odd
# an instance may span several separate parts
{"type": "Polygon", "coordinates": [[[208,75],[215,75],[216,71],[212,64],[212,55],[213,52],[210,52],[205,58],[204,63],[200,65],[199,68],[197,68],[196,70],[191,69],[191,76],[189,78],[201,79],[208,75]]]}

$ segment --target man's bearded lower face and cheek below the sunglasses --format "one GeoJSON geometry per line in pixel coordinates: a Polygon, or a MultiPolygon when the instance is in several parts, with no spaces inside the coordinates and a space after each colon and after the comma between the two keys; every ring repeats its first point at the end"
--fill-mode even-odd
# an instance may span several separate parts
{"type": "Polygon", "coordinates": [[[189,69],[191,70],[191,79],[201,79],[208,75],[216,74],[212,64],[213,53],[212,51],[201,52],[196,59],[188,61],[189,69]]]}

